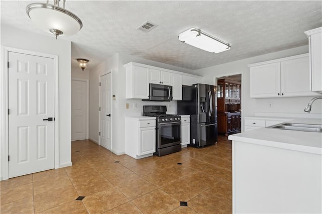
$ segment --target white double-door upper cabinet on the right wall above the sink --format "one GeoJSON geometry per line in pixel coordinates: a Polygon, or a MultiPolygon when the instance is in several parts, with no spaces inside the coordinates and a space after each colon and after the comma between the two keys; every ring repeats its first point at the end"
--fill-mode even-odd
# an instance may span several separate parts
{"type": "Polygon", "coordinates": [[[308,54],[249,65],[251,97],[313,96],[308,54]]]}

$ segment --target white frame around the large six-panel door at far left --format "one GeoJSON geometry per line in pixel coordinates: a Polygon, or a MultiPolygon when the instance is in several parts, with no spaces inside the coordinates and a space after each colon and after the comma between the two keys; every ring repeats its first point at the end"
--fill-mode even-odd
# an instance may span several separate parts
{"type": "Polygon", "coordinates": [[[9,74],[8,74],[8,58],[9,52],[16,52],[22,54],[29,54],[35,56],[42,56],[52,58],[54,60],[54,162],[55,169],[59,168],[59,95],[58,95],[58,56],[47,53],[40,53],[35,51],[23,50],[12,47],[2,47],[2,71],[0,73],[0,154],[1,154],[1,177],[0,180],[9,179],[9,118],[8,118],[8,100],[9,100],[9,74]]]}

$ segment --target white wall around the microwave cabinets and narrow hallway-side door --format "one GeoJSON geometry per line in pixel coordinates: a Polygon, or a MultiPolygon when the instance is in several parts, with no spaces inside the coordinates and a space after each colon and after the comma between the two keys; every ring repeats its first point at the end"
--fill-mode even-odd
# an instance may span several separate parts
{"type": "MultiPolygon", "coordinates": [[[[96,66],[90,72],[90,139],[98,142],[99,139],[99,76],[112,72],[112,94],[116,99],[112,101],[112,151],[116,154],[125,153],[125,114],[141,114],[143,105],[167,105],[169,113],[177,113],[177,101],[170,102],[154,102],[142,101],[140,99],[125,98],[125,68],[124,64],[129,62],[137,62],[146,65],[181,71],[185,73],[193,73],[192,70],[180,68],[164,63],[154,62],[137,56],[126,54],[115,54],[96,66]],[[130,108],[126,109],[125,105],[129,103],[130,108]],[[137,105],[134,108],[134,103],[137,105]]],[[[184,84],[200,83],[202,79],[191,76],[184,76],[184,84]]]]}

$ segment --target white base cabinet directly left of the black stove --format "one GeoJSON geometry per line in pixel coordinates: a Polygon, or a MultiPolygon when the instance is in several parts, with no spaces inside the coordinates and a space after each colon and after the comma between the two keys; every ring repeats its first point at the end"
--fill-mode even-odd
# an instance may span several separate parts
{"type": "Polygon", "coordinates": [[[155,152],[155,118],[125,118],[125,153],[135,159],[155,152]]]}

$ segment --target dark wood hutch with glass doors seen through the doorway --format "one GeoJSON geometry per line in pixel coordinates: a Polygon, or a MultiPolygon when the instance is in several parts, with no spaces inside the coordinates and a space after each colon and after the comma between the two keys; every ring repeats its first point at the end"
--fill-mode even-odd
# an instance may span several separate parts
{"type": "Polygon", "coordinates": [[[241,84],[230,79],[217,81],[218,133],[225,136],[240,132],[241,84]]]}

